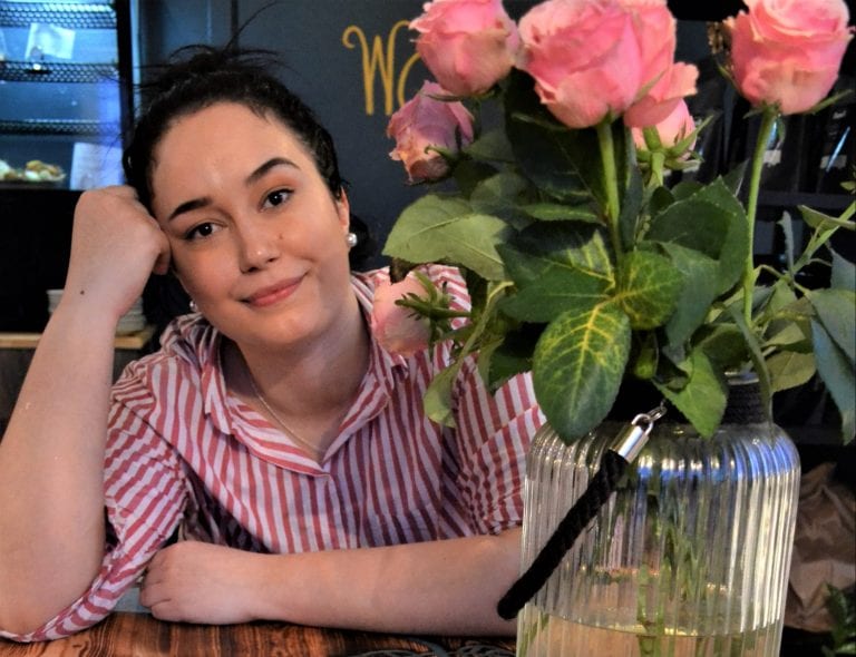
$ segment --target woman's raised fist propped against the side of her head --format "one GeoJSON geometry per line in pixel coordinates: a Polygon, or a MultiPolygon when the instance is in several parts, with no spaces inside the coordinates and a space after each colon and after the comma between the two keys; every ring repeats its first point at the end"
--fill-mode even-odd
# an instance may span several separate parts
{"type": "Polygon", "coordinates": [[[169,243],[128,186],[85,192],[75,209],[64,302],[97,304],[118,318],[139,297],[148,276],[165,274],[169,243]]]}

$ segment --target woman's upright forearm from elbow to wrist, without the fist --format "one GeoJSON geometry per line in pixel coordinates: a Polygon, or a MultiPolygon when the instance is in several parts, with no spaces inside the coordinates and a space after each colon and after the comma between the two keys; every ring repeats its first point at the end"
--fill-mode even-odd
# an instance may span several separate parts
{"type": "Polygon", "coordinates": [[[0,442],[0,627],[33,629],[98,571],[110,320],[60,304],[0,442]]]}

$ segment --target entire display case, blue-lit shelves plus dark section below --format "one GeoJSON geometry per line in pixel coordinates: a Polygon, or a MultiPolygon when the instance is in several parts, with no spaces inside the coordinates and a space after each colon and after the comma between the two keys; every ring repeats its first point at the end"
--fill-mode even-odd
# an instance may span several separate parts
{"type": "Polygon", "coordinates": [[[40,331],[81,190],[119,184],[129,0],[0,0],[0,331],[40,331]]]}

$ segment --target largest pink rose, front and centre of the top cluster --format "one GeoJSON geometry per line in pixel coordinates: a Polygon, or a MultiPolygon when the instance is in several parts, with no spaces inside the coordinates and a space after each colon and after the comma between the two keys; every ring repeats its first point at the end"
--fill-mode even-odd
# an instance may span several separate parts
{"type": "Polygon", "coordinates": [[[636,99],[645,73],[641,26],[620,0],[547,0],[521,19],[517,66],[560,121],[587,128],[636,99]]]}

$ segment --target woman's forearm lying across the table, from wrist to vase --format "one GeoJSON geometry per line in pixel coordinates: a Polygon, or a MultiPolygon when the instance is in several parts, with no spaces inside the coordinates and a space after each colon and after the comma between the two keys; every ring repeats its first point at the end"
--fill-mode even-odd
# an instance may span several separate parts
{"type": "Polygon", "coordinates": [[[519,530],[406,546],[264,556],[259,616],[307,625],[512,635],[496,604],[519,570],[519,530]]]}

